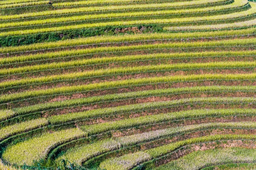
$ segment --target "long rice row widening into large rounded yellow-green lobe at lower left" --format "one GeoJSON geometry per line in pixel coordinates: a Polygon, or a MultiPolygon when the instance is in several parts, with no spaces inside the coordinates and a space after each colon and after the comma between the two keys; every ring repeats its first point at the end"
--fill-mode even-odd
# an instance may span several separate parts
{"type": "MultiPolygon", "coordinates": [[[[106,122],[95,125],[85,125],[82,126],[81,131],[77,128],[61,130],[54,133],[45,133],[41,136],[26,140],[25,142],[20,142],[18,144],[7,147],[6,151],[3,153],[3,159],[12,164],[28,164],[31,165],[34,161],[40,159],[45,159],[49,151],[58,146],[81,137],[86,137],[87,135],[99,134],[111,130],[118,130],[123,128],[130,128],[141,125],[149,125],[154,123],[172,121],[177,119],[185,119],[186,117],[197,119],[201,117],[209,116],[233,116],[233,115],[255,115],[255,110],[252,109],[230,109],[230,110],[194,110],[186,112],[175,112],[166,114],[157,114],[150,116],[137,117],[132,119],[124,119],[115,122],[106,122]],[[92,131],[90,131],[92,130],[92,131]],[[26,156],[24,156],[26,152],[26,156]],[[22,155],[23,156],[22,156],[22,155]]],[[[235,125],[235,124],[233,124],[235,125]]],[[[255,126],[255,124],[240,124],[239,126],[255,126]]]]}

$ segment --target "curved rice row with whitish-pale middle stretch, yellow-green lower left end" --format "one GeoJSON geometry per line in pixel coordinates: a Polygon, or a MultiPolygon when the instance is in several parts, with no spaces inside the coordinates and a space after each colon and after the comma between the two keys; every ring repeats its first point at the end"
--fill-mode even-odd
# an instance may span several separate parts
{"type": "MultiPolygon", "coordinates": [[[[202,112],[204,112],[204,110],[202,110],[202,112]]],[[[205,123],[199,125],[172,127],[130,136],[117,137],[114,139],[106,139],[99,142],[94,142],[92,144],[83,144],[81,146],[72,147],[63,155],[59,156],[55,162],[57,163],[61,159],[65,159],[72,163],[82,165],[88,159],[99,156],[103,153],[110,152],[112,150],[122,149],[124,147],[133,146],[134,144],[154,141],[156,139],[176,136],[183,133],[191,133],[195,131],[210,130],[215,128],[254,129],[256,128],[256,124],[254,122],[205,123]]]]}

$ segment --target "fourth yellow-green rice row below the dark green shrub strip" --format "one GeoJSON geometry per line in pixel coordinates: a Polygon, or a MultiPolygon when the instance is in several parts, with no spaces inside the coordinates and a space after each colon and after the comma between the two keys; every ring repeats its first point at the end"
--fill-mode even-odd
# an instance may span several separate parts
{"type": "MultiPolygon", "coordinates": [[[[76,72],[71,74],[52,75],[38,78],[26,78],[0,83],[0,89],[19,88],[29,85],[47,84],[78,79],[91,79],[99,77],[113,77],[116,75],[142,74],[168,71],[190,71],[202,69],[240,69],[256,68],[256,62],[206,62],[206,63],[179,63],[172,65],[146,65],[137,67],[107,68],[93,71],[76,72]]],[[[18,69],[10,69],[9,72],[0,71],[0,76],[23,74],[18,69]],[[13,72],[11,72],[13,71],[13,72]],[[15,72],[14,72],[15,71],[15,72]],[[16,72],[17,71],[17,72],[16,72]]],[[[28,72],[25,72],[28,73],[28,72]]],[[[31,72],[29,72],[31,73],[31,72]]],[[[0,96],[1,97],[1,96],[0,96]]],[[[0,100],[1,101],[1,100],[0,100]]]]}

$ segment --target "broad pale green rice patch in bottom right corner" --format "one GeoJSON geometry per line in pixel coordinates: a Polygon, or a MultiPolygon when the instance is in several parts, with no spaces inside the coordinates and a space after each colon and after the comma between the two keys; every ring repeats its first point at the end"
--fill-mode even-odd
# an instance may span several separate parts
{"type": "Polygon", "coordinates": [[[218,148],[189,153],[175,161],[154,168],[154,170],[198,170],[221,164],[251,164],[255,161],[255,149],[244,147],[218,148]]]}

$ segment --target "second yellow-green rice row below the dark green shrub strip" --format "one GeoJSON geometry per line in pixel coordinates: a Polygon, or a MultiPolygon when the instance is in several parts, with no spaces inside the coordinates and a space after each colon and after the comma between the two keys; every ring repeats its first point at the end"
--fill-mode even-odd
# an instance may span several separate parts
{"type": "MultiPolygon", "coordinates": [[[[160,39],[160,40],[163,40],[160,39]]],[[[81,44],[80,44],[81,45],[81,44]]],[[[46,54],[32,54],[26,56],[10,57],[7,59],[0,59],[1,64],[15,63],[15,62],[35,62],[49,59],[62,59],[79,57],[90,54],[103,53],[117,53],[128,51],[145,51],[145,50],[160,50],[160,49],[180,49],[180,48],[217,48],[217,47],[247,47],[255,46],[256,38],[234,39],[234,40],[218,40],[210,42],[172,42],[172,43],[157,43],[146,45],[130,45],[130,46],[112,46],[112,47],[98,47],[87,48],[81,50],[69,50],[60,52],[49,52],[46,54]]],[[[76,46],[76,45],[74,45],[76,46]]],[[[220,52],[221,53],[221,52],[220,52]]],[[[244,54],[251,54],[252,52],[244,52],[244,54]]]]}

